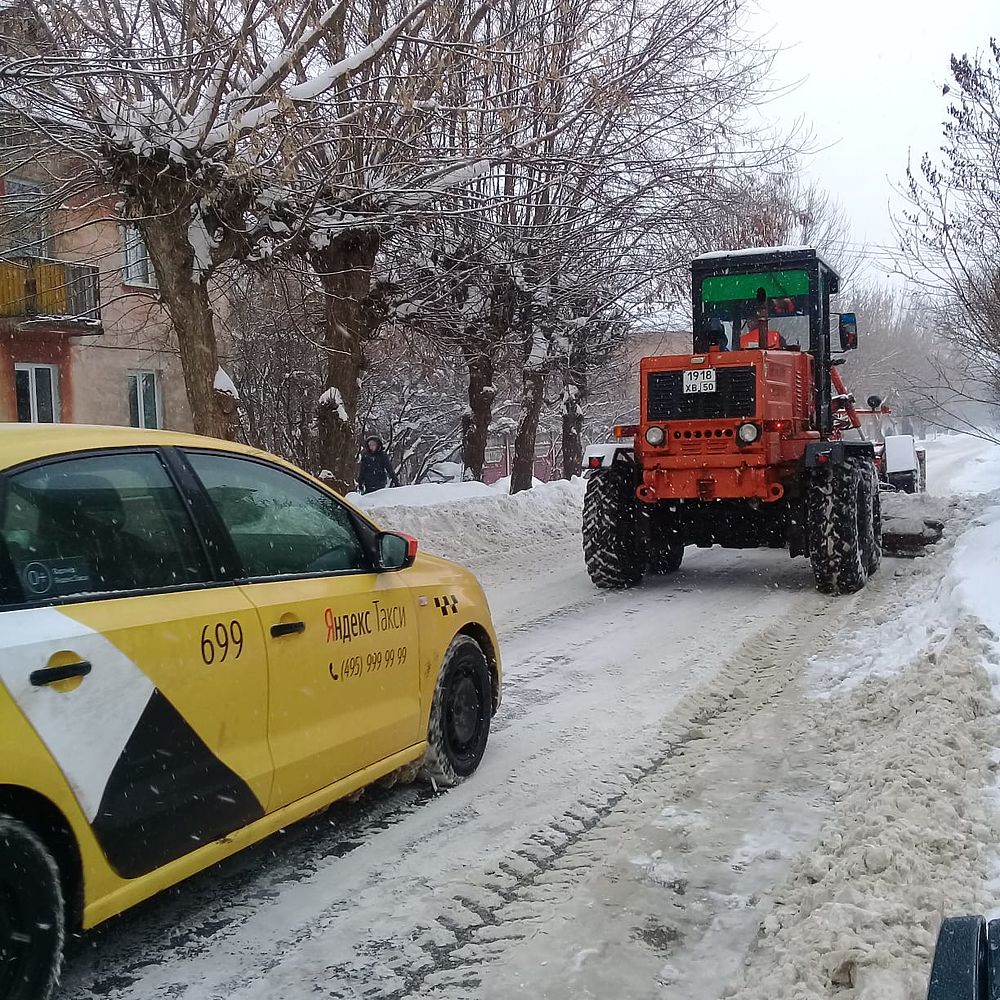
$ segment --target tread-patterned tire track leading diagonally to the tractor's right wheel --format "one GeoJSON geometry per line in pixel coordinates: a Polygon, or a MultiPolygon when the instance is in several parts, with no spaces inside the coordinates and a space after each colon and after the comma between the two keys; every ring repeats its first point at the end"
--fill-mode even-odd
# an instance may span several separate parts
{"type": "MultiPolygon", "coordinates": [[[[602,788],[590,790],[498,861],[464,870],[463,890],[438,900],[432,923],[393,926],[381,941],[355,950],[346,961],[303,969],[304,981],[323,984],[319,995],[331,1000],[452,995],[467,1000],[477,995],[486,966],[502,961],[507,949],[600,863],[622,825],[635,821],[635,803],[649,797],[669,800],[671,788],[685,780],[671,763],[710,741],[706,731],[725,728],[770,705],[852,603],[829,602],[809,617],[796,608],[766,637],[744,644],[716,677],[684,699],[643,760],[616,780],[603,782],[602,788]],[[399,941],[406,946],[399,947],[399,941]],[[458,992],[452,994],[452,989],[458,992]]],[[[327,915],[332,916],[333,911],[327,915]]],[[[318,943],[328,927],[323,920],[308,936],[318,943]]],[[[297,940],[301,945],[302,938],[297,940]]],[[[282,956],[267,963],[254,983],[230,995],[240,1000],[269,995],[276,985],[271,977],[285,961],[282,956]]]]}

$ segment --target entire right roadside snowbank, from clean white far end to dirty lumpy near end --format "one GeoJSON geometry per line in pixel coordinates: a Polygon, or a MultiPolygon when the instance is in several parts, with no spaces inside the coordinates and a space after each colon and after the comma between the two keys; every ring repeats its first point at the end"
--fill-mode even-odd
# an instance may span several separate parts
{"type": "Polygon", "coordinates": [[[916,1000],[942,917],[996,907],[1000,506],[958,499],[947,523],[896,570],[896,598],[812,664],[831,817],[727,996],[916,1000]]]}

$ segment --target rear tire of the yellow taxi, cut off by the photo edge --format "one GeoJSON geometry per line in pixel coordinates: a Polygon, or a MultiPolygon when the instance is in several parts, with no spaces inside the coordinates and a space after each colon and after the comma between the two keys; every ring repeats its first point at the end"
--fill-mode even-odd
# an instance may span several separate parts
{"type": "Polygon", "coordinates": [[[47,1000],[59,982],[66,906],[59,867],[41,838],[20,820],[0,815],[0,1000],[47,1000]],[[6,919],[6,924],[5,924],[6,919]],[[18,933],[18,928],[21,930],[18,933]],[[27,937],[15,941],[11,936],[27,937]],[[19,967],[8,965],[19,948],[19,967]],[[10,977],[9,979],[6,977],[10,977]]]}

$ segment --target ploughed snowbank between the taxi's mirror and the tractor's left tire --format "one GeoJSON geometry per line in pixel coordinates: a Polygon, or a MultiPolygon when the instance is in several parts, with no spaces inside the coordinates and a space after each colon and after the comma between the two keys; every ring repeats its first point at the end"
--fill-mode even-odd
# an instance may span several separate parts
{"type": "Polygon", "coordinates": [[[427,484],[349,499],[367,507],[383,528],[405,531],[424,551],[490,580],[497,557],[508,551],[560,538],[578,547],[585,488],[582,479],[558,480],[511,496],[482,483],[427,484]],[[399,495],[409,503],[396,504],[399,495]]]}

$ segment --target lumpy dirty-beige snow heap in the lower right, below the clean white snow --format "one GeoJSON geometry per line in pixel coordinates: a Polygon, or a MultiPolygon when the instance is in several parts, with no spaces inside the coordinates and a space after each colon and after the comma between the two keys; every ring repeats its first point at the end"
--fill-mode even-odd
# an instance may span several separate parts
{"type": "Polygon", "coordinates": [[[980,633],[966,619],[900,678],[870,677],[814,713],[834,759],[832,816],[726,996],[925,996],[940,921],[984,909],[1000,838],[988,801],[1000,733],[980,633]]]}

